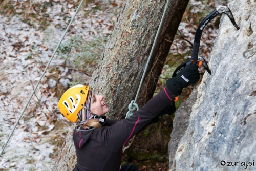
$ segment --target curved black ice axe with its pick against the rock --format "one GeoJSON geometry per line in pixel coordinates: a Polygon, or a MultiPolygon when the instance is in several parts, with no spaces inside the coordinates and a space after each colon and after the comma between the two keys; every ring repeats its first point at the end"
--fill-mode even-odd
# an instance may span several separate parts
{"type": "Polygon", "coordinates": [[[191,65],[195,62],[198,62],[198,65],[203,65],[204,68],[206,69],[206,71],[211,74],[211,71],[207,65],[207,62],[205,61],[205,59],[202,56],[198,56],[199,53],[199,46],[200,46],[200,39],[201,39],[201,35],[203,33],[203,30],[205,28],[205,26],[215,17],[217,17],[218,15],[225,13],[227,14],[228,18],[231,20],[232,24],[234,25],[234,27],[236,27],[239,30],[239,27],[236,23],[236,21],[234,20],[234,16],[231,12],[231,10],[227,7],[227,6],[223,6],[220,5],[219,7],[216,8],[216,10],[214,10],[213,12],[211,12],[207,17],[205,17],[203,19],[203,21],[200,23],[199,27],[197,28],[197,32],[196,32],[196,36],[195,36],[195,40],[194,40],[194,44],[193,44],[193,51],[192,51],[192,56],[190,59],[188,59],[187,61],[185,61],[184,63],[182,63],[179,67],[176,68],[176,70],[173,73],[172,77],[175,77],[183,68],[185,68],[188,65],[191,65]]]}

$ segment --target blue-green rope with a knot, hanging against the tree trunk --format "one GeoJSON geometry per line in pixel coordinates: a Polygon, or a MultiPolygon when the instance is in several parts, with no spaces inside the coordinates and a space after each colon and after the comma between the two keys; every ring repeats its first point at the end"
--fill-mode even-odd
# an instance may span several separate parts
{"type": "Polygon", "coordinates": [[[137,100],[137,98],[138,98],[138,95],[139,95],[139,92],[140,92],[140,88],[141,88],[143,79],[144,79],[144,77],[145,77],[145,73],[146,73],[148,64],[150,63],[150,59],[151,59],[151,56],[152,56],[152,54],[153,54],[153,51],[154,51],[154,48],[155,48],[155,45],[156,45],[156,41],[157,41],[158,35],[159,35],[159,33],[160,33],[160,30],[161,30],[161,26],[162,26],[162,23],[163,23],[163,19],[164,19],[165,13],[166,13],[166,11],[167,11],[168,4],[169,4],[169,0],[167,1],[166,5],[165,5],[164,12],[163,12],[163,16],[162,16],[160,25],[159,25],[158,30],[157,30],[157,35],[156,35],[156,37],[155,37],[155,40],[154,40],[154,43],[153,43],[153,46],[152,46],[152,49],[151,49],[151,52],[150,52],[150,56],[149,56],[148,59],[147,59],[146,67],[145,67],[144,73],[143,73],[143,75],[142,75],[142,78],[141,78],[141,80],[140,80],[140,86],[139,86],[139,89],[138,89],[138,91],[137,91],[135,100],[131,101],[131,103],[129,104],[129,106],[128,106],[129,111],[127,112],[125,118],[130,118],[130,116],[133,115],[133,111],[134,111],[136,108],[137,108],[137,111],[139,110],[139,106],[138,106],[138,104],[136,104],[136,100],[137,100]]]}

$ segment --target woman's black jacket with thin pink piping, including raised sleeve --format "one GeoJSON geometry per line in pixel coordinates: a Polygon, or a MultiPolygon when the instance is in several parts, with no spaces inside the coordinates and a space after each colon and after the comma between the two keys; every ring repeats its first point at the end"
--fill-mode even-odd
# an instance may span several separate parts
{"type": "Polygon", "coordinates": [[[118,171],[122,146],[167,106],[174,94],[165,87],[129,119],[106,120],[97,130],[74,130],[75,170],[118,171]]]}

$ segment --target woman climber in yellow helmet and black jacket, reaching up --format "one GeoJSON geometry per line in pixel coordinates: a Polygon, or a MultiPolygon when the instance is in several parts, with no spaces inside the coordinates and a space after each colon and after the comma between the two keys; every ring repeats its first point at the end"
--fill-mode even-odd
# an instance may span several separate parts
{"type": "Polygon", "coordinates": [[[122,146],[144,129],[182,89],[199,81],[198,63],[186,66],[166,87],[150,99],[130,118],[108,120],[109,111],[103,96],[95,95],[88,86],[76,85],[60,98],[58,108],[63,116],[76,122],[73,140],[77,164],[74,170],[120,171],[138,170],[135,165],[121,165],[122,146]]]}

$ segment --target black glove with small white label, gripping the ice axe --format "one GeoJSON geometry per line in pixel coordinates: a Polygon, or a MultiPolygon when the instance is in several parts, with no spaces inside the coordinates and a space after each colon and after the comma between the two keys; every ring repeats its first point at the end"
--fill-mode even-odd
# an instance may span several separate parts
{"type": "Polygon", "coordinates": [[[181,94],[182,89],[199,81],[197,62],[183,68],[175,77],[166,81],[167,88],[174,93],[175,96],[181,94]]]}

